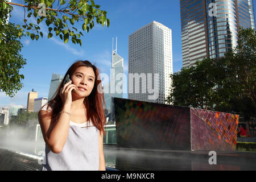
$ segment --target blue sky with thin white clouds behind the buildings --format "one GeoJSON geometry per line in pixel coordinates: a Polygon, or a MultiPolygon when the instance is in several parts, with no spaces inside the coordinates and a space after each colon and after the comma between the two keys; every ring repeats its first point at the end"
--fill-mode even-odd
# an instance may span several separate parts
{"type": "MultiPolygon", "coordinates": [[[[20,1],[12,1],[19,2],[20,1]]],[[[110,75],[112,38],[117,36],[117,53],[124,58],[124,73],[128,72],[128,37],[138,28],[153,20],[172,29],[172,52],[174,72],[182,68],[181,27],[179,0],[94,0],[101,10],[106,10],[110,19],[110,27],[102,27],[95,23],[89,33],[83,32],[82,46],[72,44],[71,40],[64,44],[55,34],[51,39],[39,38],[38,41],[28,37],[22,38],[23,49],[21,54],[27,64],[20,73],[24,75],[24,86],[16,96],[10,98],[0,93],[0,107],[22,105],[27,107],[27,94],[33,88],[38,97],[48,97],[49,84],[52,73],[65,74],[67,69],[76,60],[89,60],[100,69],[101,73],[110,75]]],[[[254,0],[255,9],[256,0],[254,0]]],[[[10,22],[21,23],[24,10],[14,7],[10,22]]],[[[31,21],[35,22],[34,19],[31,21]]],[[[95,21],[96,22],[96,21],[95,21]]],[[[30,22],[28,22],[30,23],[30,22]]],[[[46,32],[47,26],[41,23],[42,30],[46,32]]],[[[81,24],[78,24],[81,27],[81,24]]],[[[81,28],[80,28],[81,30],[81,28]]],[[[127,98],[127,94],[123,95],[127,98]]]]}

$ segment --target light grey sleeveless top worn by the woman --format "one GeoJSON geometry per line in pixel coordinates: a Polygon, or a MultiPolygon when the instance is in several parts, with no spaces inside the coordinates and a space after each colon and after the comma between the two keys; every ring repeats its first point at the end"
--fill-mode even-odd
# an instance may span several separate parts
{"type": "Polygon", "coordinates": [[[49,150],[42,171],[96,171],[99,167],[98,129],[95,126],[69,126],[68,138],[59,154],[49,150]]]}

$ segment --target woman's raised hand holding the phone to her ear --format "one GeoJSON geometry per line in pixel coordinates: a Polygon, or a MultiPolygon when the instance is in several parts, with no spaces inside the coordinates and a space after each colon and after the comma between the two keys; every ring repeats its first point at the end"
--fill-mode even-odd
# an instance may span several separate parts
{"type": "Polygon", "coordinates": [[[72,90],[76,89],[76,85],[71,84],[72,81],[67,82],[63,86],[63,88],[60,89],[60,98],[63,102],[63,105],[71,105],[72,104],[72,90]]]}

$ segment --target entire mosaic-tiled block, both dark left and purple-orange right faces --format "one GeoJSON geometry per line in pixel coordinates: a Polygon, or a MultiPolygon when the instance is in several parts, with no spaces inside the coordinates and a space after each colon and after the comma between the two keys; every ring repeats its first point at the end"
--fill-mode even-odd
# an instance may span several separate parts
{"type": "Polygon", "coordinates": [[[118,147],[234,150],[238,115],[114,98],[118,147]]]}

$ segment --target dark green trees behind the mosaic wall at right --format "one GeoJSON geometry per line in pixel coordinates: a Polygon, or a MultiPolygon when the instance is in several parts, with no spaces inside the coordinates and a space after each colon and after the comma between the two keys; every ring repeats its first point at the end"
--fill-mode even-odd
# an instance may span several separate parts
{"type": "Polygon", "coordinates": [[[235,112],[255,127],[256,31],[240,28],[238,45],[225,57],[197,61],[171,75],[169,104],[235,112]]]}

